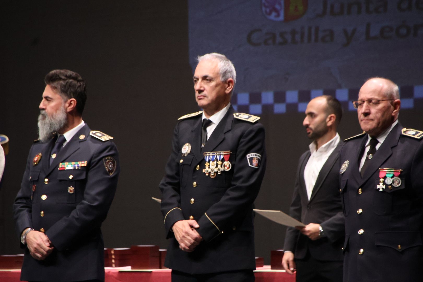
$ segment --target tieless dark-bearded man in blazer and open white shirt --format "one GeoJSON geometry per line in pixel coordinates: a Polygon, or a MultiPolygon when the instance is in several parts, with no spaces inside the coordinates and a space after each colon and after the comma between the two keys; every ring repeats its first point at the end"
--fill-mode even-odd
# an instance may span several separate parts
{"type": "Polygon", "coordinates": [[[343,141],[336,132],[342,107],[332,96],[311,100],[303,126],[313,142],[299,159],[290,216],[305,227],[288,227],[282,259],[297,281],[342,281],[344,218],[339,195],[338,154],[343,141]]]}

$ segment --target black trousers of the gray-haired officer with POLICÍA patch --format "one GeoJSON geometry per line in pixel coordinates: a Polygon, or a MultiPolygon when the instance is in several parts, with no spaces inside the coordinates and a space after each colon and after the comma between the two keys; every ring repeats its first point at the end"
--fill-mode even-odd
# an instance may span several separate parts
{"type": "Polygon", "coordinates": [[[225,271],[207,274],[188,274],[172,270],[172,282],[254,282],[254,272],[249,270],[225,271]]]}

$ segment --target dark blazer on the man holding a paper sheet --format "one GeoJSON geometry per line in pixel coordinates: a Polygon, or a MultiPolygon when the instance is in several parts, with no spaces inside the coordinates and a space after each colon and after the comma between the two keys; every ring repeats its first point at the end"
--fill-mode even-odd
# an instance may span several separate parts
{"type": "Polygon", "coordinates": [[[345,228],[339,196],[338,164],[342,145],[341,140],[321,168],[310,200],[304,180],[304,169],[310,158],[310,150],[303,153],[299,159],[289,215],[305,225],[319,223],[326,237],[312,241],[294,227],[288,227],[283,249],[294,252],[297,259],[304,258],[309,250],[310,255],[317,260],[342,260],[341,248],[345,228]]]}

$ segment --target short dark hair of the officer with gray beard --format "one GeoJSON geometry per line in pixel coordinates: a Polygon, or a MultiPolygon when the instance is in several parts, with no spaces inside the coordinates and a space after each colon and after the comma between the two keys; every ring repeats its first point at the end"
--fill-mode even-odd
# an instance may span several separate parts
{"type": "Polygon", "coordinates": [[[76,111],[82,115],[87,101],[87,88],[79,74],[67,69],[55,69],[46,75],[44,82],[62,96],[63,100],[77,100],[76,111]]]}

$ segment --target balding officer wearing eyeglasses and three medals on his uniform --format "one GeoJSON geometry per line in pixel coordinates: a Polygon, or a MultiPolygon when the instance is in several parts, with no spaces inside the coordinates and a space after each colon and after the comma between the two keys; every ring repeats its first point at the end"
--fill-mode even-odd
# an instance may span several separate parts
{"type": "Polygon", "coordinates": [[[340,155],[343,281],[423,277],[423,131],[398,122],[398,86],[374,77],[353,102],[363,133],[340,155]]]}

